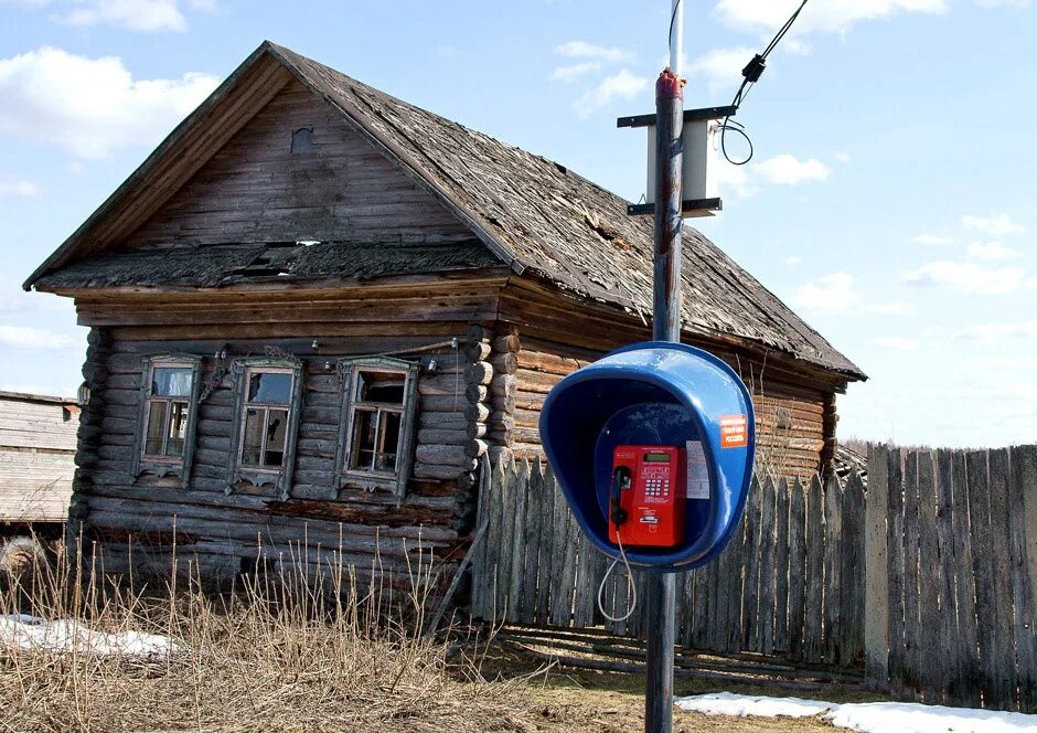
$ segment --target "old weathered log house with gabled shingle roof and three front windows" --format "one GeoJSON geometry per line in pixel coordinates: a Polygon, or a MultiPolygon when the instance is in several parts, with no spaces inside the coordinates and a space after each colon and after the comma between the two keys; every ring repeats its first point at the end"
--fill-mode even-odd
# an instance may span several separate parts
{"type": "MultiPolygon", "coordinates": [[[[685,229],[687,342],[806,476],[860,371],[685,229]]],[[[445,577],[489,450],[650,338],[652,222],[564,166],[263,43],[32,274],[90,328],[71,522],[107,570],[306,541],[445,577]]]]}

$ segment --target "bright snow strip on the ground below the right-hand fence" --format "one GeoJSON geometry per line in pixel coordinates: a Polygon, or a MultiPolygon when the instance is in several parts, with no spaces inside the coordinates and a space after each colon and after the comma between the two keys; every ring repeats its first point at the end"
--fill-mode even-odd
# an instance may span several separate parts
{"type": "Polygon", "coordinates": [[[835,727],[859,733],[1037,733],[1037,715],[911,702],[840,705],[800,698],[767,698],[730,692],[677,698],[675,702],[681,710],[706,715],[812,718],[823,714],[823,720],[835,727]]]}

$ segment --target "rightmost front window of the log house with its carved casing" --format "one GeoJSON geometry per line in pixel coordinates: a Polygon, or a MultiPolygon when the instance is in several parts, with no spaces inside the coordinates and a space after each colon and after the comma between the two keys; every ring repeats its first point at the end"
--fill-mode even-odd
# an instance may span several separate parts
{"type": "Polygon", "coordinates": [[[419,365],[400,359],[342,359],[342,416],[335,482],[403,498],[414,465],[419,365]]]}

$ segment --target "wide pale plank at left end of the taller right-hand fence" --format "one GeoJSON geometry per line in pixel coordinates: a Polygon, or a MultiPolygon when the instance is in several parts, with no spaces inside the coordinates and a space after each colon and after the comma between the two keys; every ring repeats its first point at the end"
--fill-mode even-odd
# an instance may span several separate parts
{"type": "Polygon", "coordinates": [[[865,679],[885,690],[889,671],[889,569],[886,521],[889,506],[889,450],[868,445],[868,493],[864,511],[865,679]]]}

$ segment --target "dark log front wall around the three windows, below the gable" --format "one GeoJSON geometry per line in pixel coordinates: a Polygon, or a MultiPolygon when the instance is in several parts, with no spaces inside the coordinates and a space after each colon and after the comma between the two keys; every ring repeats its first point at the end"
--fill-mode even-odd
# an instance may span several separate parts
{"type": "MultiPolygon", "coordinates": [[[[73,527],[82,522],[107,571],[161,572],[172,548],[203,575],[227,580],[242,563],[263,556],[296,557],[297,543],[314,561],[343,560],[363,575],[373,563],[400,582],[417,560],[432,563],[434,578],[452,577],[460,545],[474,521],[474,475],[488,450],[490,340],[482,327],[453,326],[452,336],[161,340],[161,331],[95,328],[84,374],[93,395],[79,429],[81,467],[73,527]],[[150,339],[141,338],[145,332],[150,339]],[[136,336],[137,338],[130,338],[136,336]],[[456,346],[455,346],[456,344],[456,346]],[[293,482],[276,489],[231,486],[235,357],[275,348],[303,364],[303,396],[293,482]],[[226,360],[215,357],[226,350],[226,360]],[[203,400],[194,464],[186,488],[174,478],[132,475],[140,415],[142,358],[163,352],[203,357],[203,400]],[[415,463],[402,499],[389,490],[335,486],[342,386],[340,357],[398,354],[419,361],[415,463]],[[435,362],[435,366],[434,366],[435,362]]],[[[229,332],[229,330],[227,331],[229,332]]],[[[90,552],[94,549],[89,550],[90,552]]]]}

